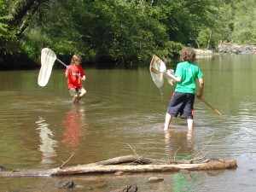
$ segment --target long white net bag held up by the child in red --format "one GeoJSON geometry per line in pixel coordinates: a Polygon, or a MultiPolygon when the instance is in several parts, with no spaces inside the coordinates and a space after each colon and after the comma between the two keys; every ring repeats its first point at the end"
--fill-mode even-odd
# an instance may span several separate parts
{"type": "Polygon", "coordinates": [[[48,83],[55,60],[56,60],[55,52],[53,52],[51,49],[48,49],[48,48],[42,49],[41,68],[38,75],[38,84],[40,86],[45,86],[48,83]]]}

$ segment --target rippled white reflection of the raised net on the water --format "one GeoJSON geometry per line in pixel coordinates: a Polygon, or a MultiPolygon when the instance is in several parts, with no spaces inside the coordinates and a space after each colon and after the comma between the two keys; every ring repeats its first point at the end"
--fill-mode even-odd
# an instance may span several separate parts
{"type": "Polygon", "coordinates": [[[55,147],[57,147],[57,141],[53,140],[53,132],[49,130],[49,124],[46,123],[45,119],[38,117],[38,131],[40,137],[39,150],[42,152],[42,164],[52,164],[54,161],[51,159],[56,155],[55,147]]]}

